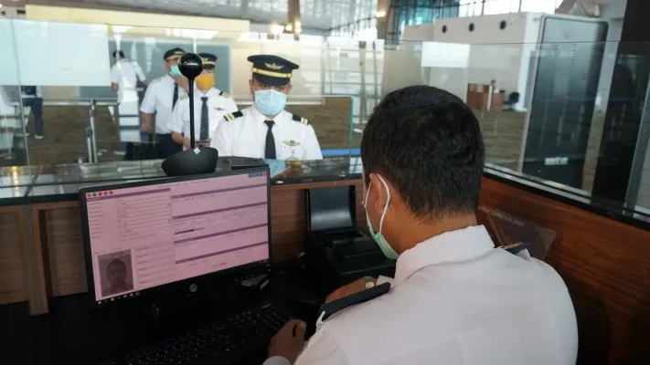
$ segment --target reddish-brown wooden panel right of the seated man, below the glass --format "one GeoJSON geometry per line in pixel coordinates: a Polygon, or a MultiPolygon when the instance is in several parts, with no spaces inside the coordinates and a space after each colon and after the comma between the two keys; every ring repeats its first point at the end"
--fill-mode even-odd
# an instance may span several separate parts
{"type": "Polygon", "coordinates": [[[569,287],[581,363],[650,363],[650,232],[490,179],[481,203],[558,234],[546,261],[569,287]]]}

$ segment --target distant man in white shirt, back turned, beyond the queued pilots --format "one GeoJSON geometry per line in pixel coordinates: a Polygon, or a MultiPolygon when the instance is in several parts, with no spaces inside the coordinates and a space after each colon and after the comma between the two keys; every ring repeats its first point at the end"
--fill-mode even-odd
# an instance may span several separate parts
{"type": "Polygon", "coordinates": [[[111,68],[111,86],[117,91],[120,141],[124,153],[127,142],[141,140],[138,85],[144,83],[145,76],[140,65],[124,57],[123,51],[114,51],[112,57],[115,63],[111,68]]]}

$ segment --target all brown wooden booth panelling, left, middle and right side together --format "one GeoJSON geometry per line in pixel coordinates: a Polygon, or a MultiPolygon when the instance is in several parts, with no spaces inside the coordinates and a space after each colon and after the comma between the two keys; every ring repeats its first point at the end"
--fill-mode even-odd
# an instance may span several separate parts
{"type": "MultiPolygon", "coordinates": [[[[274,262],[303,250],[305,189],[334,185],[357,186],[366,226],[360,180],[272,186],[274,262]]],[[[557,233],[547,261],[573,299],[579,363],[650,363],[650,231],[527,190],[486,177],[481,203],[557,233]]],[[[0,303],[28,300],[39,314],[48,296],[87,290],[79,203],[0,207],[0,236],[0,303]]]]}

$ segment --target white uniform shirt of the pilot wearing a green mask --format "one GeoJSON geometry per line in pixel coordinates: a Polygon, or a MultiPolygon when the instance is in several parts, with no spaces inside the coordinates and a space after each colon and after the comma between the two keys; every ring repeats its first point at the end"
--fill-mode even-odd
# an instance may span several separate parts
{"type": "MultiPolygon", "coordinates": [[[[174,103],[174,89],[176,81],[169,75],[155,78],[144,92],[144,99],[140,104],[140,111],[146,114],[155,113],[155,132],[169,134],[169,123],[172,120],[174,103]]],[[[178,99],[176,105],[186,95],[185,89],[178,86],[178,99]]]]}

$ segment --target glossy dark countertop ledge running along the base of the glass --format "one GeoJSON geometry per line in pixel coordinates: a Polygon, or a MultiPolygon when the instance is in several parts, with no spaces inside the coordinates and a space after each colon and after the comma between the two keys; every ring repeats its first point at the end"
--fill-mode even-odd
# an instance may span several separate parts
{"type": "MultiPolygon", "coordinates": [[[[64,164],[0,168],[0,206],[25,203],[76,201],[82,187],[111,183],[133,183],[141,180],[163,179],[161,160],[139,162],[100,162],[93,164],[64,164]]],[[[318,161],[267,161],[272,185],[317,183],[361,178],[359,157],[333,157],[318,161]]],[[[230,158],[219,158],[217,172],[229,171],[230,158]]],[[[487,164],[485,177],[538,193],[601,214],[609,218],[650,229],[650,215],[623,206],[592,199],[588,193],[569,186],[513,172],[487,164]]]]}

